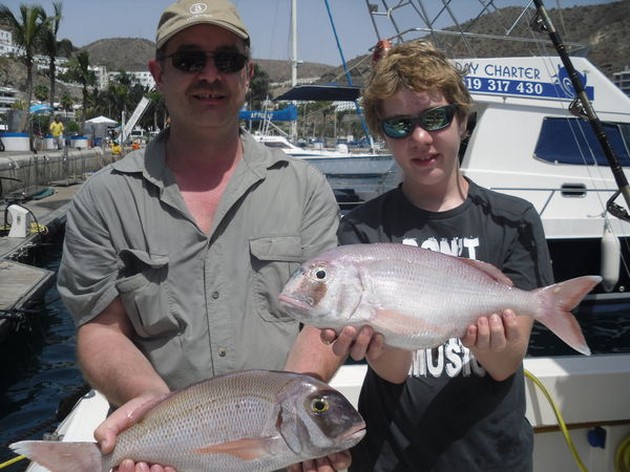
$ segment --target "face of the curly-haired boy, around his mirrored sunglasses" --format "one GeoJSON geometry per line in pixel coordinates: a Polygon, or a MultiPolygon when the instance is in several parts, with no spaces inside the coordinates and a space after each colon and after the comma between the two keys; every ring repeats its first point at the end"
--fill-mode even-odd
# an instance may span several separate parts
{"type": "MultiPolygon", "coordinates": [[[[393,117],[417,117],[431,108],[448,105],[440,91],[415,92],[403,88],[383,101],[380,119],[393,117]]],[[[459,177],[459,146],[466,132],[457,113],[450,125],[437,131],[426,131],[415,126],[411,134],[403,138],[385,136],[404,173],[405,186],[431,187],[448,190],[457,185],[459,177]]]]}

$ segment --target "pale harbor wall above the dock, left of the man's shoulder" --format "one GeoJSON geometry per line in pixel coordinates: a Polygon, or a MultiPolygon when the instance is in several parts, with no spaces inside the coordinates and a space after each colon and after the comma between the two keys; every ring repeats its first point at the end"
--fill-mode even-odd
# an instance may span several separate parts
{"type": "Polygon", "coordinates": [[[86,174],[95,172],[113,162],[109,150],[65,149],[62,151],[1,152],[0,153],[0,198],[7,198],[29,189],[54,183],[70,183],[81,180],[86,174]]]}

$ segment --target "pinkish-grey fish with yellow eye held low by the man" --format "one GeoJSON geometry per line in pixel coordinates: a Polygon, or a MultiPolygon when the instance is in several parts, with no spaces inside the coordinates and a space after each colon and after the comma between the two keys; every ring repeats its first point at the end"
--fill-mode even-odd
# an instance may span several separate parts
{"type": "Polygon", "coordinates": [[[108,471],[123,459],[180,472],[273,471],[349,449],[365,423],[346,398],[310,376],[245,371],[174,392],[121,433],[95,443],[22,441],[11,448],[52,472],[108,471]]]}

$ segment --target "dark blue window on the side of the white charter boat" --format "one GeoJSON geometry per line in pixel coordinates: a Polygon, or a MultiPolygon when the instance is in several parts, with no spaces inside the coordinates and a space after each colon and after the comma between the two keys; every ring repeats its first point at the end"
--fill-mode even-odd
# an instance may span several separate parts
{"type": "MultiPolygon", "coordinates": [[[[619,163],[630,167],[630,123],[602,125],[619,163]]],[[[580,118],[545,118],[534,153],[538,159],[553,163],[608,165],[591,124],[580,118]]]]}

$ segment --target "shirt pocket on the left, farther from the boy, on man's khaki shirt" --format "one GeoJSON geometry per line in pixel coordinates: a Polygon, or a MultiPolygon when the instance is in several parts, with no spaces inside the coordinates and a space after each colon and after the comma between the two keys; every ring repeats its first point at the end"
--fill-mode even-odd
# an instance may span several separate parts
{"type": "Polygon", "coordinates": [[[135,249],[124,249],[119,256],[123,267],[116,288],[136,333],[147,338],[181,332],[171,312],[168,256],[135,249]]]}

